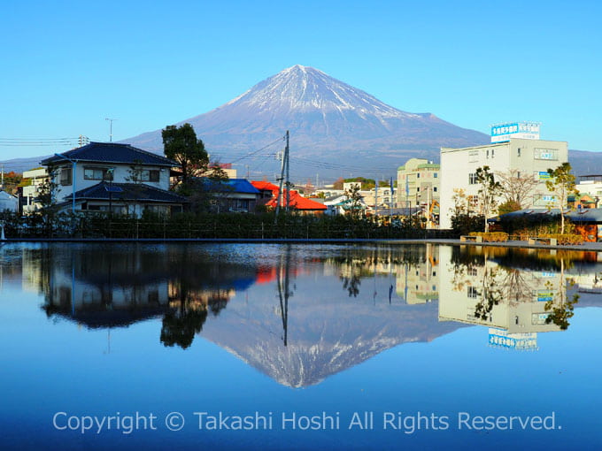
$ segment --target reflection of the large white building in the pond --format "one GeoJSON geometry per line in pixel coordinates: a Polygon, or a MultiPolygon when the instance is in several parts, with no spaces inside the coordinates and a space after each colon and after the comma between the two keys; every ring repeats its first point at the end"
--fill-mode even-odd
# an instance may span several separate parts
{"type": "MultiPolygon", "coordinates": [[[[486,251],[480,248],[481,251],[486,251]]],[[[487,325],[506,333],[560,330],[545,324],[545,303],[565,299],[560,272],[507,269],[484,258],[484,265],[451,263],[451,248],[441,248],[439,320],[487,325]],[[498,303],[488,302],[487,294],[498,303]]]]}

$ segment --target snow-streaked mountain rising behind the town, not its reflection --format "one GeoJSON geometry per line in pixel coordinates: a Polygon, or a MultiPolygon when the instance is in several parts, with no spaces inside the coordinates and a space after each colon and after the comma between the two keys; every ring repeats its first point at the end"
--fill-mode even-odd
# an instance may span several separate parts
{"type": "MultiPolygon", "coordinates": [[[[433,114],[397,110],[302,65],[285,69],[219,108],[178,124],[184,122],[195,127],[212,156],[222,162],[259,149],[286,130],[296,157],[330,162],[344,158],[363,166],[374,165],[376,152],[379,165],[391,168],[406,157],[437,157],[441,146],[489,141],[485,134],[454,126],[433,114]]],[[[143,149],[162,149],[160,130],[124,141],[143,149]]]]}

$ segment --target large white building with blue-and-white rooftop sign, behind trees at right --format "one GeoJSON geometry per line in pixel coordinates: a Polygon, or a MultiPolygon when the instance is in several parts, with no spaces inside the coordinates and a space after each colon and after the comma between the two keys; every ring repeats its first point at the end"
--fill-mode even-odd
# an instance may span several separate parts
{"type": "MultiPolygon", "coordinates": [[[[492,134],[494,129],[496,127],[492,128],[492,134]]],[[[536,136],[538,137],[538,134],[536,136]]],[[[498,136],[492,136],[493,139],[497,140],[498,136]]],[[[515,138],[513,134],[510,134],[507,140],[491,142],[484,146],[441,149],[441,228],[451,228],[453,197],[458,190],[463,190],[467,196],[471,210],[476,213],[481,211],[476,170],[483,166],[489,166],[490,172],[508,173],[513,170],[519,177],[533,177],[538,181],[536,188],[529,195],[528,205],[522,205],[523,208],[545,208],[552,203],[553,195],[545,187],[545,181],[550,178],[548,169],[554,169],[568,161],[567,142],[515,138]]],[[[500,196],[499,201],[501,200],[500,196]]],[[[490,216],[497,213],[491,211],[490,216]]]]}

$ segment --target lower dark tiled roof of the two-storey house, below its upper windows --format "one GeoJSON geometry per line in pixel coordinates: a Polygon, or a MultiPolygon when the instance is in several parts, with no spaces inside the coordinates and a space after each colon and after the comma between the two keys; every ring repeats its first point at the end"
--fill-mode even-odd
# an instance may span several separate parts
{"type": "MultiPolygon", "coordinates": [[[[66,195],[68,201],[72,195],[66,195]]],[[[108,201],[138,201],[157,203],[187,203],[186,197],[176,195],[171,191],[151,187],[143,183],[106,183],[101,181],[92,187],[87,187],[75,192],[76,200],[104,200],[108,201]],[[120,191],[119,191],[119,189],[120,191]]]]}

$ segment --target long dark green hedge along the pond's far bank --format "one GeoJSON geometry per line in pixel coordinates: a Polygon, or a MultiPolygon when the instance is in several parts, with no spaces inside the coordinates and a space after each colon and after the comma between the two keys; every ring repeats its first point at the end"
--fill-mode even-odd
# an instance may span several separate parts
{"type": "Polygon", "coordinates": [[[451,232],[426,230],[421,221],[405,218],[353,219],[282,214],[274,219],[274,213],[180,213],[173,217],[144,214],[142,218],[110,217],[106,213],[27,217],[0,213],[7,238],[451,238],[451,232]]]}

